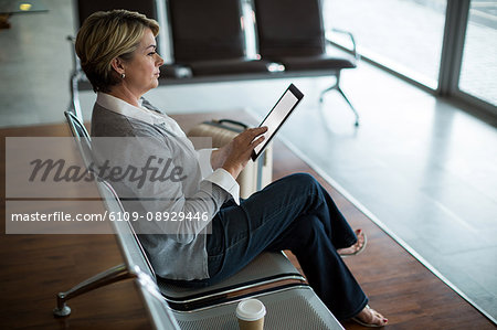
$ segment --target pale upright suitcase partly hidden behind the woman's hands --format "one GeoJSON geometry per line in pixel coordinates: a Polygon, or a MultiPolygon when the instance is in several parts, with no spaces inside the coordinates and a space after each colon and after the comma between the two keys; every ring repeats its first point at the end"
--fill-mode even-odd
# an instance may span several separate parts
{"type": "MultiPolygon", "coordinates": [[[[246,128],[246,125],[230,119],[203,121],[189,130],[188,137],[211,137],[212,148],[220,148],[246,128]]],[[[255,162],[252,159],[248,160],[236,181],[240,184],[242,199],[248,198],[273,181],[273,148],[271,143],[255,162]]]]}

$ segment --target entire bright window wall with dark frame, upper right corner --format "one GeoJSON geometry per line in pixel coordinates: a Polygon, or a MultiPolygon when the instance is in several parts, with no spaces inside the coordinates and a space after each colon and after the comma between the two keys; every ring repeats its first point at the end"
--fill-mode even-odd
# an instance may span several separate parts
{"type": "Polygon", "coordinates": [[[325,28],[352,32],[369,62],[497,115],[497,1],[322,1],[325,28]]]}

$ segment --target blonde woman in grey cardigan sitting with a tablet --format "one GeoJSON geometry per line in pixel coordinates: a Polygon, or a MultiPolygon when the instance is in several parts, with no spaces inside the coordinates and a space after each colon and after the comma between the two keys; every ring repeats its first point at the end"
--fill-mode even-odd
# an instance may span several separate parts
{"type": "Polygon", "coordinates": [[[235,179],[266,128],[247,129],[218,150],[195,151],[176,121],[141,98],[158,86],[163,64],[156,52],[158,32],[156,21],[115,10],[91,15],[76,39],[82,67],[97,92],[94,141],[120,137],[97,158],[145,172],[147,180],[121,175],[113,183],[121,196],[135,198],[128,211],[156,214],[147,227],[138,226],[157,275],[209,285],[264,251],[290,249],[337,318],[384,326],[388,320],[367,306],[368,298],[337,252],[356,254],[364,247],[364,236],[350,228],[313,177],[289,175],[239,199],[235,179]],[[133,142],[125,142],[128,138],[133,142]],[[167,182],[156,180],[154,161],[162,166],[167,182]],[[190,219],[157,219],[178,214],[190,219]]]}

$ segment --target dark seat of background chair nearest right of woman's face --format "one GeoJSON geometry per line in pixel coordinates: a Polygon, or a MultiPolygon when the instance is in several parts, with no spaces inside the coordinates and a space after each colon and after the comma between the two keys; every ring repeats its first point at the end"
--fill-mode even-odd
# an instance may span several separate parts
{"type": "Polygon", "coordinates": [[[274,63],[261,60],[219,60],[219,61],[198,61],[187,64],[193,76],[212,76],[212,75],[236,75],[236,74],[254,74],[268,73],[271,65],[274,63]]]}

